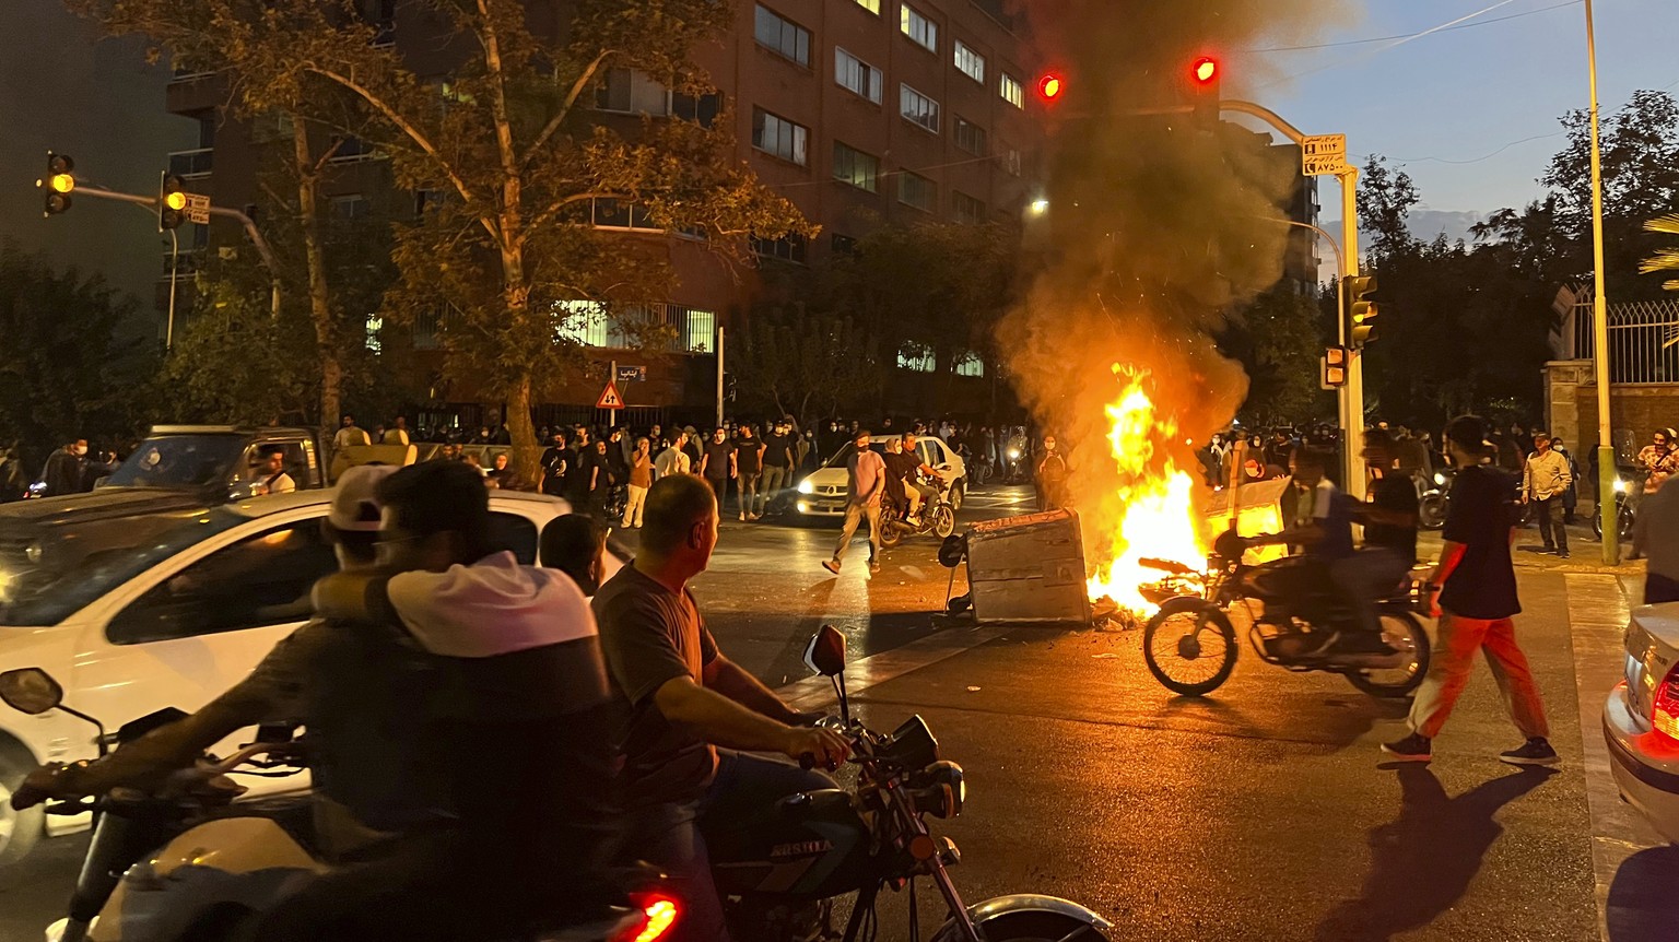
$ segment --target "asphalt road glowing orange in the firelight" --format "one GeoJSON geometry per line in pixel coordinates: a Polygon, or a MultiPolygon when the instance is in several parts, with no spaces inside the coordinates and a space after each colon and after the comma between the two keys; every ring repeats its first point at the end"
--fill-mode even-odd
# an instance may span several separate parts
{"type": "MultiPolygon", "coordinates": [[[[1024,502],[974,495],[962,517],[1024,502]]],[[[1679,851],[1619,806],[1595,746],[1639,573],[1593,566],[1592,544],[1568,563],[1521,556],[1518,626],[1565,759],[1525,772],[1494,761],[1516,732],[1484,670],[1432,766],[1383,767],[1377,744],[1402,735],[1404,709],[1340,678],[1242,657],[1216,697],[1177,699],[1133,631],[947,623],[937,541],[890,551],[873,578],[855,552],[833,578],[819,568],[833,539],[729,522],[695,593],[720,646],[801,705],[831,700],[801,683],[799,655],[833,623],[861,715],[928,720],[967,769],[967,813],[939,829],[962,848],[969,902],[1068,897],[1127,940],[1679,939],[1679,851]]],[[[62,912],[81,843],[45,841],[0,875],[0,940],[39,939],[62,912]]],[[[923,927],[940,917],[934,897],[922,888],[923,927]]],[[[881,939],[907,937],[903,905],[881,905],[881,939]]]]}

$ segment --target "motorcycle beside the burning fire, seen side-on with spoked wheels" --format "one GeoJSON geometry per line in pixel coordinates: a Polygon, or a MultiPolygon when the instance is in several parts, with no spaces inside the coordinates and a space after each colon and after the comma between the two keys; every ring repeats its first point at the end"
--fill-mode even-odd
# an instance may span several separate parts
{"type": "Polygon", "coordinates": [[[1336,599],[1313,591],[1318,579],[1305,569],[1310,563],[1291,556],[1249,566],[1246,549],[1232,531],[1214,541],[1204,573],[1164,559],[1143,561],[1167,573],[1160,583],[1143,586],[1143,598],[1160,604],[1143,628],[1143,660],[1167,690],[1204,697],[1229,680],[1239,648],[1229,611],[1237,603],[1249,616],[1247,640],[1266,663],[1340,673],[1373,697],[1405,697],[1422,683],[1429,635],[1414,615],[1429,603],[1422,581],[1409,579],[1377,603],[1382,641],[1390,652],[1345,650],[1340,640],[1362,630],[1348,625],[1353,613],[1342,611],[1336,599]]]}

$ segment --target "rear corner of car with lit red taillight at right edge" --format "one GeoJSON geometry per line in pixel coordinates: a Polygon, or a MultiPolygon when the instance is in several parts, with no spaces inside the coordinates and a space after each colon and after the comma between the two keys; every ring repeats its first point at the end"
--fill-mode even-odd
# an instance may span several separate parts
{"type": "Polygon", "coordinates": [[[1627,678],[1603,704],[1620,796],[1679,843],[1679,603],[1632,610],[1627,678]]]}

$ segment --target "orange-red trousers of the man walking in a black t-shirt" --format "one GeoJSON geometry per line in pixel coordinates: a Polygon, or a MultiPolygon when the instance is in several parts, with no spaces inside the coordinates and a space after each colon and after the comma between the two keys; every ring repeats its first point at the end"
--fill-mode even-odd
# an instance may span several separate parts
{"type": "Polygon", "coordinates": [[[1452,715],[1452,707],[1457,705],[1457,697],[1469,685],[1476,652],[1484,650],[1486,665],[1493,670],[1493,680],[1498,682],[1498,692],[1503,695],[1504,709],[1509,710],[1516,729],[1528,739],[1550,735],[1540,688],[1533,682],[1528,657],[1516,645],[1516,625],[1509,618],[1489,621],[1444,611],[1437,635],[1429,677],[1422,680],[1417,699],[1410,705],[1410,729],[1414,732],[1429,739],[1441,734],[1446,719],[1452,715]]]}

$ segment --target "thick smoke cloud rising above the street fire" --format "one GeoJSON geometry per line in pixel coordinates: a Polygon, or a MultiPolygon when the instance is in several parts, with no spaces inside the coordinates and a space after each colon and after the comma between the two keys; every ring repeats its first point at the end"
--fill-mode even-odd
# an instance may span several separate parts
{"type": "MultiPolygon", "coordinates": [[[[1044,430],[1073,445],[1073,499],[1086,552],[1101,561],[1123,515],[1106,406],[1145,371],[1167,420],[1142,463],[1195,474],[1194,447],[1227,425],[1247,390],[1211,334],[1232,304],[1281,277],[1288,161],[1249,131],[1195,128],[1190,64],[1222,64],[1222,97],[1254,97],[1274,74],[1234,74],[1236,54],[1305,39],[1333,3],[1308,0],[1031,0],[1044,62],[1066,76],[1051,107],[1048,213],[1028,243],[1046,264],[999,326],[1012,383],[1044,430]],[[1137,114],[1155,111],[1157,114],[1137,114]],[[1175,425],[1175,432],[1169,428],[1175,425]]],[[[1258,65],[1254,55],[1241,69],[1258,65]]],[[[1263,97],[1261,97],[1263,102],[1263,97]]]]}

